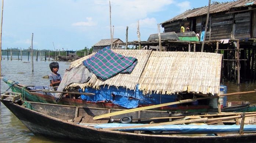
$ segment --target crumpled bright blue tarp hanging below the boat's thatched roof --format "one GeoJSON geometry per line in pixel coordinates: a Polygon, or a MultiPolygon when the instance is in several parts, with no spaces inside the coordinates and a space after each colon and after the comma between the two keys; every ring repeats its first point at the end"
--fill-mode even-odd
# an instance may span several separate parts
{"type": "MultiPolygon", "coordinates": [[[[79,92],[83,92],[79,89],[79,92]]],[[[81,95],[81,99],[91,102],[112,102],[113,104],[120,105],[125,108],[136,108],[138,105],[154,105],[163,104],[176,101],[177,95],[167,94],[143,94],[142,91],[129,90],[126,88],[115,86],[100,86],[99,90],[87,87],[84,92],[94,93],[95,95],[81,95]]],[[[177,105],[171,105],[170,107],[177,107],[177,105]]]]}

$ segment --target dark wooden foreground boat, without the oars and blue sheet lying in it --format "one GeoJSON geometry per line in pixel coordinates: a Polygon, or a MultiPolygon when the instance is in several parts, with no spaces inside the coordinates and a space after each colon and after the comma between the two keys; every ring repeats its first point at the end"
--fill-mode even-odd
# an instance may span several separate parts
{"type": "MultiPolygon", "coordinates": [[[[184,141],[189,143],[249,143],[256,140],[255,131],[244,131],[242,134],[238,134],[238,132],[222,132],[221,134],[217,134],[218,132],[212,132],[214,136],[201,136],[201,134],[194,134],[193,136],[190,136],[189,134],[193,133],[182,134],[180,132],[141,132],[115,131],[103,128],[97,129],[95,126],[101,125],[102,123],[111,123],[120,119],[122,116],[138,117],[138,119],[133,120],[133,123],[141,123],[145,125],[151,125],[148,123],[153,121],[150,119],[152,117],[161,117],[158,118],[158,120],[154,120],[155,124],[161,124],[162,122],[166,123],[166,121],[169,121],[168,117],[170,116],[170,112],[139,111],[100,120],[92,120],[92,117],[94,116],[113,113],[120,109],[84,108],[35,102],[25,102],[24,104],[21,99],[16,98],[17,96],[18,95],[11,97],[1,96],[1,102],[10,109],[10,111],[14,113],[14,115],[33,134],[54,139],[93,143],[180,143],[184,141]],[[163,117],[166,117],[167,119],[163,117]]],[[[241,115],[236,117],[239,116],[241,115]]],[[[255,116],[255,114],[252,116],[255,116]]],[[[246,118],[247,116],[245,119],[246,118]]],[[[202,119],[205,120],[206,118],[202,119]]],[[[192,122],[192,120],[185,121],[192,122]]],[[[169,121],[168,123],[184,123],[184,120],[174,122],[175,121],[169,121]]]]}

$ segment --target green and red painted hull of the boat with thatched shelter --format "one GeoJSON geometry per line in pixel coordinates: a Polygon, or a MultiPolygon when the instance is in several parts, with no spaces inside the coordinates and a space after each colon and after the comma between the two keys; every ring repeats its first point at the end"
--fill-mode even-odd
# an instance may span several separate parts
{"type": "MultiPolygon", "coordinates": [[[[127,109],[119,105],[108,103],[108,102],[88,102],[81,100],[79,98],[62,98],[60,101],[56,102],[54,96],[50,96],[45,92],[39,92],[42,90],[29,90],[28,87],[32,85],[22,85],[14,81],[2,78],[6,84],[10,86],[12,92],[17,92],[22,94],[22,99],[26,101],[39,102],[39,103],[50,103],[50,104],[60,104],[60,105],[72,105],[79,107],[94,107],[94,108],[107,108],[107,109],[127,109]]],[[[73,92],[70,92],[73,93],[73,92]]],[[[79,94],[79,93],[75,93],[79,94]]],[[[73,94],[74,95],[74,94],[73,94]]],[[[71,94],[72,96],[72,94],[71,94]]],[[[74,97],[74,96],[73,96],[74,97]]],[[[147,105],[139,105],[138,107],[143,107],[147,105]]],[[[178,107],[161,107],[159,109],[166,109],[169,111],[187,111],[187,112],[217,112],[217,109],[210,109],[209,105],[179,105],[178,107]]],[[[255,112],[256,107],[250,106],[250,104],[236,105],[232,107],[226,107],[221,109],[222,112],[255,112]]]]}

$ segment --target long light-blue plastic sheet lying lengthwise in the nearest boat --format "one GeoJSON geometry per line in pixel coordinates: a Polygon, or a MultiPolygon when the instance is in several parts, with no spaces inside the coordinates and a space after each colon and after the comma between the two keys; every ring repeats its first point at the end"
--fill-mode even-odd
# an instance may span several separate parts
{"type": "MultiPolygon", "coordinates": [[[[96,125],[94,128],[115,128],[145,124],[120,124],[109,123],[96,125]]],[[[151,124],[152,125],[152,124],[151,124]]],[[[138,127],[129,129],[119,129],[118,131],[166,131],[183,133],[214,133],[214,132],[238,132],[240,125],[159,125],[154,127],[138,127]]],[[[256,131],[256,125],[244,125],[244,131],[256,131]]]]}

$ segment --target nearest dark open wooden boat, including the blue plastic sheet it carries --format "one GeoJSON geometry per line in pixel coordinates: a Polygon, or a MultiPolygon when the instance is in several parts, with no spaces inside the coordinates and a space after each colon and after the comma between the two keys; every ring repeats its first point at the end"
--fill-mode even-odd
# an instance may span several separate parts
{"type": "MultiPolygon", "coordinates": [[[[224,132],[219,129],[210,129],[210,131],[195,130],[191,132],[192,127],[195,129],[199,129],[200,127],[210,128],[212,126],[219,128],[221,125],[182,125],[181,123],[209,121],[210,118],[202,117],[198,119],[171,121],[169,111],[149,110],[93,120],[93,117],[102,114],[123,112],[126,110],[35,103],[22,101],[18,98],[19,96],[19,93],[10,94],[10,96],[8,96],[8,94],[1,94],[1,102],[33,134],[47,138],[93,143],[180,143],[184,141],[189,143],[251,143],[256,140],[256,126],[253,125],[252,122],[250,122],[251,125],[243,125],[247,123],[247,117],[255,117],[255,114],[242,115],[241,125],[224,125],[224,132]],[[132,118],[131,116],[137,119],[129,120],[132,118]],[[160,118],[152,120],[152,117],[160,118]],[[122,120],[125,118],[127,119],[122,120]],[[116,123],[116,121],[118,121],[118,123],[116,123]],[[127,123],[126,121],[129,121],[129,124],[125,124],[127,123]],[[166,123],[179,125],[166,125],[166,123]],[[148,126],[150,128],[143,129],[138,128],[139,126],[148,126]],[[164,130],[160,129],[163,127],[167,128],[164,130]],[[174,129],[173,131],[170,127],[178,127],[179,129],[174,129]],[[185,127],[187,129],[185,129],[185,127]],[[229,129],[231,127],[238,127],[238,129],[229,129]],[[244,130],[241,130],[241,127],[244,130]],[[181,128],[184,129],[181,130],[181,128]]],[[[238,115],[235,117],[241,117],[239,113],[237,114],[238,115]]],[[[221,119],[224,119],[224,116],[225,115],[222,114],[221,119]]],[[[227,117],[229,116],[225,118],[227,117]]],[[[214,119],[219,120],[219,118],[214,119]]],[[[211,120],[213,121],[214,119],[211,120]]]]}

